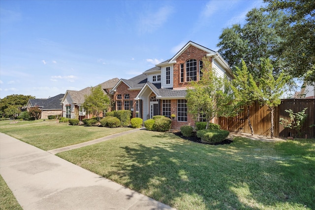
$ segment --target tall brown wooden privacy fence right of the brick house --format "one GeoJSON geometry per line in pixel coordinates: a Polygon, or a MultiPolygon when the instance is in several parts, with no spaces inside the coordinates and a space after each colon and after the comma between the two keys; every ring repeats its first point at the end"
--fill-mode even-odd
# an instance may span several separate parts
{"type": "MultiPolygon", "coordinates": [[[[303,126],[303,137],[315,138],[315,126],[310,127],[310,125],[315,124],[315,99],[283,99],[281,104],[275,108],[274,112],[274,136],[296,137],[296,132],[293,129],[284,128],[282,124],[279,123],[280,118],[289,120],[289,115],[285,110],[293,110],[294,113],[302,111],[307,107],[307,119],[303,126]]],[[[250,107],[251,122],[254,134],[270,136],[271,127],[271,115],[270,110],[267,106],[261,106],[259,102],[253,103],[250,107]]],[[[248,125],[247,120],[247,107],[245,107],[242,112],[240,112],[234,118],[223,118],[220,117],[217,121],[224,130],[229,130],[232,132],[243,132],[251,133],[251,129],[248,125]]]]}

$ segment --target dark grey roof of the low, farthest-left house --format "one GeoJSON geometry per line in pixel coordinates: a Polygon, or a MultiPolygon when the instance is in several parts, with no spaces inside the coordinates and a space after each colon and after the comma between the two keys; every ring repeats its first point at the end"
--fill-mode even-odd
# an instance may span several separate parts
{"type": "Polygon", "coordinates": [[[41,110],[61,110],[61,101],[63,99],[64,94],[59,94],[50,98],[45,99],[36,99],[31,98],[28,101],[29,107],[38,106],[41,110]]]}

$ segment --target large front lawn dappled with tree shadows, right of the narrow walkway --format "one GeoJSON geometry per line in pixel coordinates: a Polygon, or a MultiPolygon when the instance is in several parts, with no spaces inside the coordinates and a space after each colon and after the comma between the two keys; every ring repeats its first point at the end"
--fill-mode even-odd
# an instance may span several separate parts
{"type": "Polygon", "coordinates": [[[140,130],[58,156],[178,210],[315,209],[315,140],[202,145],[140,130]]]}

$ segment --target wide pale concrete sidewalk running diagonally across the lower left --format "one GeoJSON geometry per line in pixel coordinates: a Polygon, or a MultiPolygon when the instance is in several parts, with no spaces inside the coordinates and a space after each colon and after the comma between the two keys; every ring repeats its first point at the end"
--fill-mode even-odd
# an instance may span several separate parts
{"type": "Polygon", "coordinates": [[[3,133],[0,174],[25,210],[174,210],[3,133]]]}

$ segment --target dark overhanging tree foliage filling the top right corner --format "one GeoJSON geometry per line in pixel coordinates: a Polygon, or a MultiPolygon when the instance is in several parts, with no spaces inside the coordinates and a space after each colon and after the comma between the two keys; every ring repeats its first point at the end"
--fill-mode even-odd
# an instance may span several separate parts
{"type": "Polygon", "coordinates": [[[284,11],[279,30],[282,38],[280,50],[283,54],[284,69],[293,77],[306,83],[315,81],[315,2],[314,0],[264,0],[266,11],[284,11]]]}

